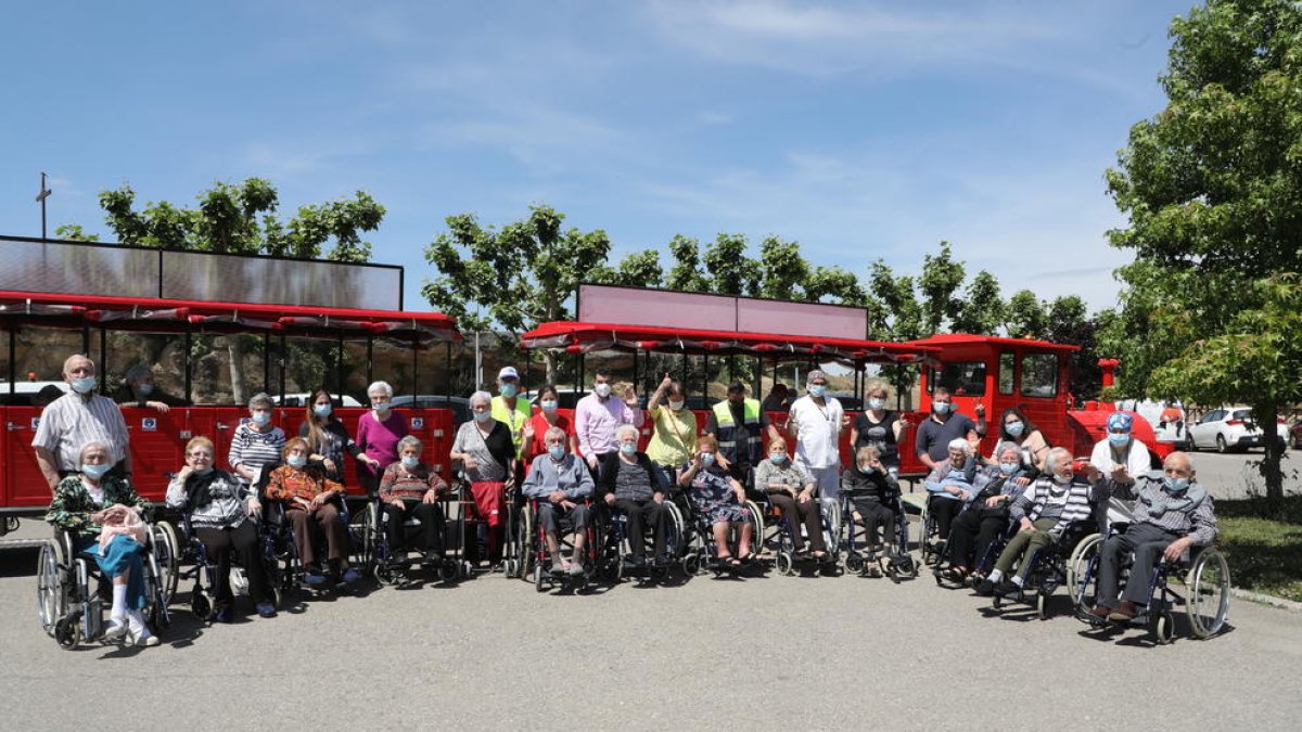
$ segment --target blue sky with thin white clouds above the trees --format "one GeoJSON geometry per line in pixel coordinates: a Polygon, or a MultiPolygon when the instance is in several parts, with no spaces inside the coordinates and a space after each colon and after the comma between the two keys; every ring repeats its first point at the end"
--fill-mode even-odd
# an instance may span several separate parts
{"type": "Polygon", "coordinates": [[[98,191],[271,178],[288,218],[365,189],[408,268],[444,218],[547,203],[616,255],[676,233],[917,271],[948,240],[1005,296],[1115,303],[1103,172],[1163,106],[1193,3],[10,4],[0,233],[107,234],[98,191]],[[76,5],[76,8],[72,8],[76,5]],[[161,9],[160,9],[161,8],[161,9]]]}

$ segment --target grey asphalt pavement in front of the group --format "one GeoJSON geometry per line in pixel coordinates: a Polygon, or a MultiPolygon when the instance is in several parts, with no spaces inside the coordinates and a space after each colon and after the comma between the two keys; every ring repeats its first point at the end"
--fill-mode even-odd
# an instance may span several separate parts
{"type": "MultiPolygon", "coordinates": [[[[1200,475],[1233,474],[1198,456],[1200,475]]],[[[1242,456],[1240,456],[1242,461],[1242,456]]],[[[25,522],[17,538],[43,538],[25,522]]],[[[14,538],[14,535],[10,535],[14,538]]],[[[482,576],[297,599],[155,649],[60,650],[36,552],[0,551],[4,729],[1295,729],[1302,613],[1233,600],[1155,646],[930,576],[694,577],[590,595],[482,576]]],[[[184,603],[189,587],[182,586],[184,603]]]]}

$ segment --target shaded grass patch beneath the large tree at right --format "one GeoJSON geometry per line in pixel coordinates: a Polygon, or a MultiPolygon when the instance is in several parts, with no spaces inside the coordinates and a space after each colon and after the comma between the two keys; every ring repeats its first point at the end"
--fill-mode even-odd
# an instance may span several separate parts
{"type": "Polygon", "coordinates": [[[1302,496],[1219,500],[1216,522],[1236,587],[1302,602],[1302,496]]]}

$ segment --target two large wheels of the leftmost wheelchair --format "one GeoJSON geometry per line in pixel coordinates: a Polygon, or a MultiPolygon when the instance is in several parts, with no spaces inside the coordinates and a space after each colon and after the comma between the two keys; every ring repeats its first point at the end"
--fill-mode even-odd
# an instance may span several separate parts
{"type": "MultiPolygon", "coordinates": [[[[158,525],[145,541],[145,623],[155,636],[172,624],[168,584],[176,573],[176,543],[158,525]]],[[[73,537],[61,529],[40,544],[36,557],[36,615],[44,632],[64,650],[104,634],[104,606],[112,602],[112,582],[95,560],[76,554],[73,537]]]]}

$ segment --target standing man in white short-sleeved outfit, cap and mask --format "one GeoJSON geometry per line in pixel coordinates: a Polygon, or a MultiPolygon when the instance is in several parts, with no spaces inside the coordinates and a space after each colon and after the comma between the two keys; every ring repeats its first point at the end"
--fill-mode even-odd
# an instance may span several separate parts
{"type": "Polygon", "coordinates": [[[809,393],[796,400],[786,431],[796,440],[796,464],[818,486],[824,505],[836,503],[841,479],[841,430],[850,426],[850,418],[841,402],[827,396],[827,374],[809,373],[809,393]]]}

